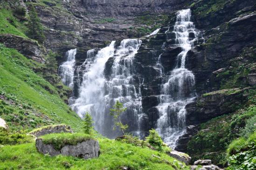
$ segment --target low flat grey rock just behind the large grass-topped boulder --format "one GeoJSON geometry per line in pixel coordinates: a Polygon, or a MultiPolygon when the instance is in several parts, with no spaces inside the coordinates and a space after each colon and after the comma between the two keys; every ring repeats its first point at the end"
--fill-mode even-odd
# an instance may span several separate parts
{"type": "Polygon", "coordinates": [[[70,126],[67,126],[67,125],[50,125],[50,126],[42,127],[42,129],[32,131],[29,134],[39,137],[46,134],[62,133],[62,132],[73,133],[73,130],[70,128],[70,126]]]}

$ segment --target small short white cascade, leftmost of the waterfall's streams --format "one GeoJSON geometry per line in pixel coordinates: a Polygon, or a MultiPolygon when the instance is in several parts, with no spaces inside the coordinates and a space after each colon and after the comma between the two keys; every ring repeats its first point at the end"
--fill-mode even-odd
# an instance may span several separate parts
{"type": "Polygon", "coordinates": [[[75,71],[74,65],[76,61],[76,49],[70,49],[66,55],[67,61],[59,67],[58,74],[62,77],[63,84],[72,88],[75,71]]]}

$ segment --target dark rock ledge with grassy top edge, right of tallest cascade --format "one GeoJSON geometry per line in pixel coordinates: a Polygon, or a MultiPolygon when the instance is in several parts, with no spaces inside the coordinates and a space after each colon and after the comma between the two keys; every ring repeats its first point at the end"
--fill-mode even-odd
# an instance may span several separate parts
{"type": "Polygon", "coordinates": [[[187,109],[187,123],[197,124],[207,120],[228,114],[246,101],[243,96],[244,89],[223,89],[207,93],[199,97],[195,102],[189,103],[187,109]]]}

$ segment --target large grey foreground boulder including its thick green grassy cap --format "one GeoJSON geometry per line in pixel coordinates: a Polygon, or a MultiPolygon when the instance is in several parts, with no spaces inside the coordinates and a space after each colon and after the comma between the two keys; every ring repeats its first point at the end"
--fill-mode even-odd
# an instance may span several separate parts
{"type": "Polygon", "coordinates": [[[99,142],[87,134],[49,134],[35,141],[37,150],[50,156],[65,155],[84,159],[99,156],[99,142]]]}

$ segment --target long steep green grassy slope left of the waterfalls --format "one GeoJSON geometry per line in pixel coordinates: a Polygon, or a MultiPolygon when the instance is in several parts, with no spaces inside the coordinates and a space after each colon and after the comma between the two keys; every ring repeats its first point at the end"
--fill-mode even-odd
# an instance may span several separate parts
{"type": "MultiPolygon", "coordinates": [[[[55,124],[64,123],[70,125],[73,129],[79,129],[81,119],[62,101],[55,87],[30,69],[33,67],[41,67],[41,64],[27,59],[14,49],[0,45],[0,94],[17,103],[17,107],[9,105],[9,107],[14,106],[12,113],[1,113],[2,116],[13,115],[16,117],[15,112],[18,112],[18,110],[15,111],[15,108],[20,108],[19,104],[21,103],[25,106],[29,104],[31,112],[35,116],[41,113],[42,117],[38,116],[38,118],[42,122],[44,120],[43,115],[52,120],[52,123],[46,122],[42,125],[53,124],[53,122],[55,124]],[[50,93],[46,89],[51,89],[52,92],[50,93]]],[[[24,114],[26,109],[23,110],[24,113],[22,113],[22,110],[20,111],[20,115],[23,115],[24,120],[28,122],[30,118],[27,114],[24,114]]],[[[7,121],[7,124],[11,127],[15,127],[17,125],[15,123],[19,124],[19,121],[15,122],[12,119],[7,121]]]]}

